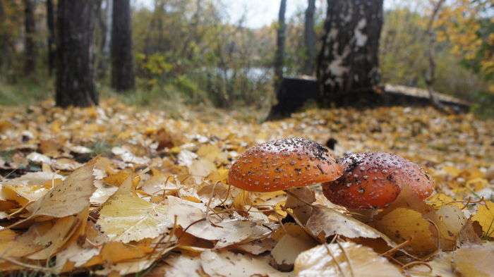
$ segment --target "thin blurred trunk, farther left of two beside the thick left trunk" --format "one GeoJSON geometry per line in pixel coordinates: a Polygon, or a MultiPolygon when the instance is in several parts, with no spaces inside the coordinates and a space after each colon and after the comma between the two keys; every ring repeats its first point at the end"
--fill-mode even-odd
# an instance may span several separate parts
{"type": "Polygon", "coordinates": [[[36,69],[34,8],[35,8],[35,4],[33,0],[24,0],[24,27],[25,27],[24,73],[25,75],[30,75],[36,69]]]}

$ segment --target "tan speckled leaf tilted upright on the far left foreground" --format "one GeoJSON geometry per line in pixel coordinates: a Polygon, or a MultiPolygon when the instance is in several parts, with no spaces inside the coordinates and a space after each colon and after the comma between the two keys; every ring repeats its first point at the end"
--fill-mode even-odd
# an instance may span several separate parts
{"type": "Polygon", "coordinates": [[[61,185],[53,187],[42,198],[33,202],[28,210],[32,216],[64,217],[78,214],[89,206],[89,199],[95,191],[95,177],[92,163],[73,171],[61,185]]]}

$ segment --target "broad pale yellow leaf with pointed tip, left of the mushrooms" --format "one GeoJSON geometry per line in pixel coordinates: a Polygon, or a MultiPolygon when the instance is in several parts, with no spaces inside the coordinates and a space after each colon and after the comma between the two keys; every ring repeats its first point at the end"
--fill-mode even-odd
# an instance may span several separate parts
{"type": "Polygon", "coordinates": [[[132,191],[132,178],[103,204],[97,221],[110,240],[119,242],[156,238],[173,224],[166,206],[147,202],[132,191]]]}

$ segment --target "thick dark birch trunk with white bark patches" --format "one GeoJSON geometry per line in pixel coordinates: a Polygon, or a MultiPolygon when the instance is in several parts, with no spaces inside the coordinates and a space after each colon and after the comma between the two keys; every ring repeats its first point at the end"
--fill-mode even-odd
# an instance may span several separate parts
{"type": "Polygon", "coordinates": [[[328,0],[318,57],[321,104],[349,102],[378,85],[382,0],[328,0]]]}

